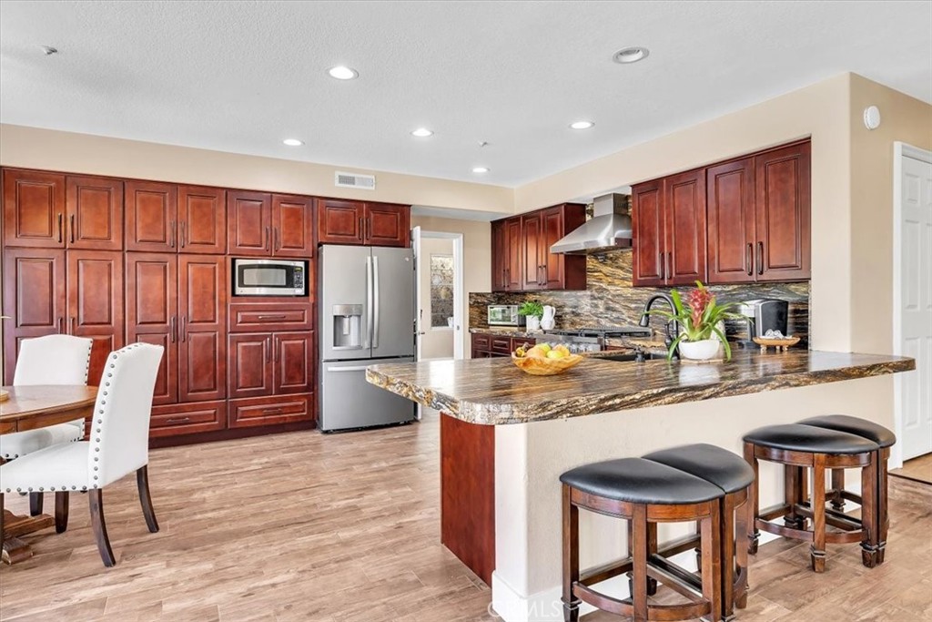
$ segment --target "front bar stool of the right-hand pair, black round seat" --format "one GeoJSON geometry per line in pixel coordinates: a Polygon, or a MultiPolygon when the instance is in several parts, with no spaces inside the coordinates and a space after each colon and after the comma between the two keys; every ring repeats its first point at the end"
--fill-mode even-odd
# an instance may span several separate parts
{"type": "Polygon", "coordinates": [[[851,435],[813,425],[789,423],[770,425],[748,432],[745,437],[745,460],[754,469],[750,507],[754,519],[748,521],[748,551],[756,553],[759,532],[775,533],[788,538],[812,543],[810,554],[816,573],[825,571],[825,546],[861,542],[871,549],[876,502],[874,500],[876,463],[873,455],[877,443],[863,436],[851,435]],[[758,491],[758,461],[765,460],[784,465],[785,503],[761,511],[758,491]],[[803,481],[806,469],[813,470],[811,501],[805,498],[803,481]],[[852,518],[842,512],[826,508],[826,469],[860,468],[863,503],[861,518],[852,518]],[[784,515],[785,525],[775,525],[770,519],[784,515]],[[806,520],[812,520],[812,529],[806,520]],[[826,525],[843,532],[826,532],[826,525]]]}

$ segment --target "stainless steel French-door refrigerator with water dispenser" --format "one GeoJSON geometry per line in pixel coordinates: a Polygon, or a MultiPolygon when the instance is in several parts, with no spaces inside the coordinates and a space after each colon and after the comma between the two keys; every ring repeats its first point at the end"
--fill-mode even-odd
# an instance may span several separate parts
{"type": "Polygon", "coordinates": [[[413,402],[365,381],[366,366],[415,360],[413,251],[325,244],[318,265],[321,430],[413,421],[413,402]]]}

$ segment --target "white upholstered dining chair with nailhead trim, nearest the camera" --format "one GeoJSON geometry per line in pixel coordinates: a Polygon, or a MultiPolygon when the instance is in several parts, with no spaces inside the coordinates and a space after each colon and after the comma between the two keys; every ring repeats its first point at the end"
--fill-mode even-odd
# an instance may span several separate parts
{"type": "Polygon", "coordinates": [[[110,352],[87,441],[61,443],[0,465],[0,539],[4,493],[54,492],[55,529],[68,525],[68,495],[88,491],[90,521],[103,565],[116,563],[103,521],[103,487],[136,472],[145,523],[158,532],[149,496],[149,416],[164,348],[149,343],[110,352]]]}

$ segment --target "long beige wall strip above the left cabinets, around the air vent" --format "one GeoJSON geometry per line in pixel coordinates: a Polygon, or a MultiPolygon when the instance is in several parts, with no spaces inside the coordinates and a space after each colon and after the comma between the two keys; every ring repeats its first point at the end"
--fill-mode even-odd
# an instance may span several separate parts
{"type": "Polygon", "coordinates": [[[514,209],[514,190],[506,187],[18,125],[0,125],[0,165],[480,212],[514,209]],[[377,189],[335,187],[335,171],[375,173],[377,189]]]}

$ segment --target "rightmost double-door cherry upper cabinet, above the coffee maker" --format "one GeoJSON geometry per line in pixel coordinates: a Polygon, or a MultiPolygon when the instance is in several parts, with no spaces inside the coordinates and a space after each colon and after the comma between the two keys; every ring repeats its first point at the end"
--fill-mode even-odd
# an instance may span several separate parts
{"type": "Polygon", "coordinates": [[[809,166],[804,142],[707,169],[709,283],[810,278],[809,166]]]}

